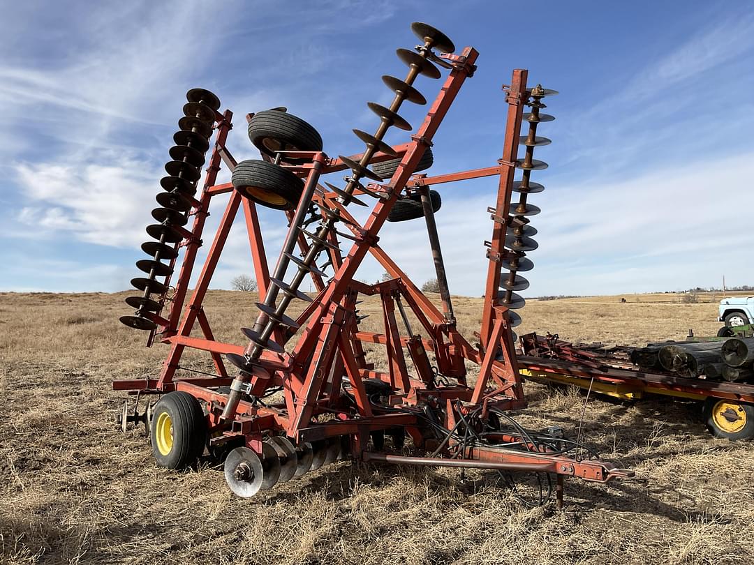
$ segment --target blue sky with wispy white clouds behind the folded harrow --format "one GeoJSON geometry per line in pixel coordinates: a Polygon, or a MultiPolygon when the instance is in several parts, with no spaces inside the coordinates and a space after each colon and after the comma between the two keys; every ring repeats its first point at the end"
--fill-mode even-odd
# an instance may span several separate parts
{"type": "MultiPolygon", "coordinates": [[[[536,154],[550,168],[532,173],[547,188],[530,199],[543,212],[526,295],[754,279],[752,2],[4,4],[0,290],[128,288],[191,87],[234,111],[239,160],[258,155],[243,116],[278,105],[313,124],[331,156],[361,151],[351,128],[375,128],[366,102],[389,101],[380,77],[403,76],[394,51],[416,44],[415,20],[480,51],[435,137],[432,173],[495,163],[511,69],[561,92],[541,127],[553,144],[536,154]]],[[[432,99],[440,82],[417,86],[432,99]]],[[[404,108],[412,124],[426,111],[404,108]]],[[[451,290],[480,295],[496,181],[437,188],[451,290]]],[[[262,229],[272,255],[282,213],[263,212],[262,229]]],[[[433,276],[423,222],[387,224],[381,238],[416,282],[433,276]]],[[[239,273],[253,273],[242,224],[213,287],[239,273]]],[[[359,277],[381,273],[369,261],[359,277]]]]}

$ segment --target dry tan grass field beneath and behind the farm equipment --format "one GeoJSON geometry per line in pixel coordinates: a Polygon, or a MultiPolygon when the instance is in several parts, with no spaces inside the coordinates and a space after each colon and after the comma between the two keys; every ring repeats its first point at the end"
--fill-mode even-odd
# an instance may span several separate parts
{"type": "MultiPolygon", "coordinates": [[[[591,398],[588,441],[636,479],[566,481],[562,512],[450,469],[342,462],[250,500],[209,464],[159,469],[143,428],[113,423],[123,395],[111,380],[156,374],[167,353],[118,322],[124,296],[0,294],[3,563],[754,563],[752,444],[713,439],[693,402],[591,398]]],[[[715,304],[642,297],[532,301],[518,329],[642,344],[719,327],[715,304]]],[[[210,292],[217,337],[241,343],[254,298],[210,292]]],[[[479,304],[455,301],[469,337],[479,304]]],[[[185,365],[211,368],[199,355],[185,365]]],[[[575,435],[583,395],[526,393],[522,423],[575,435]]]]}

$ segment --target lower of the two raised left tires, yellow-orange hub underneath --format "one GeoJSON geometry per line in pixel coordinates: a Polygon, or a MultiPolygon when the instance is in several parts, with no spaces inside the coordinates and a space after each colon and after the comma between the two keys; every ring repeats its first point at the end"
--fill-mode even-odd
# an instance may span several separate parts
{"type": "Polygon", "coordinates": [[[238,163],[231,182],[241,196],[277,210],[295,208],[304,190],[304,182],[290,170],[259,159],[238,163]]]}

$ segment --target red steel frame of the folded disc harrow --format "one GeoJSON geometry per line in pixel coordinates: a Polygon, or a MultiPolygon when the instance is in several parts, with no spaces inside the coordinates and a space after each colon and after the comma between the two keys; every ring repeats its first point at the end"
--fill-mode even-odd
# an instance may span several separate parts
{"type": "MultiPolygon", "coordinates": [[[[507,309],[497,303],[497,296],[501,276],[500,261],[505,258],[506,253],[503,244],[523,106],[529,99],[529,90],[526,89],[526,70],[514,71],[510,87],[507,87],[508,110],[504,151],[497,166],[434,177],[412,174],[425,148],[431,145],[431,139],[452,105],[458,90],[473,72],[477,54],[473,47],[465,47],[460,56],[443,55],[443,58],[452,64],[452,71],[446,78],[437,99],[432,103],[425,121],[411,136],[412,141],[394,148],[402,160],[393,178],[387,185],[372,185],[372,190],[387,191],[388,197],[377,201],[363,225],[360,225],[348,213],[345,206],[336,200],[336,194],[318,189],[314,198],[315,202],[321,207],[339,209],[342,217],[348,222],[340,225],[346,225],[351,231],[353,244],[342,259],[339,253],[332,254],[336,274],[328,283],[325,284],[319,276],[312,275],[319,294],[299,316],[298,321],[302,325],[302,331],[293,350],[282,354],[265,350],[259,360],[259,368],[253,373],[251,395],[259,396],[273,386],[281,386],[284,389],[284,402],[270,406],[241,402],[236,409],[234,419],[230,422],[224,422],[219,417],[227,396],[214,388],[228,386],[232,380],[225,368],[222,355],[243,354],[246,348],[242,345],[215,340],[202,303],[225,246],[231,224],[241,205],[244,206],[253,265],[262,295],[267,291],[270,279],[256,205],[241,197],[240,193],[233,190],[231,184],[215,184],[221,162],[224,162],[231,170],[236,164],[226,148],[226,139],[232,127],[232,113],[225,111],[222,116],[218,115],[215,144],[207,168],[204,188],[201,191],[201,197],[193,202],[194,223],[191,231],[186,231],[184,243],[181,244],[186,247],[186,250],[176,282],[176,292],[170,304],[170,313],[167,317],[161,317],[158,314],[147,315],[161,328],[159,333],[152,332],[148,345],[158,338],[159,341],[170,344],[170,353],[158,378],[116,380],[113,388],[142,393],[162,393],[173,390],[190,392],[207,403],[210,426],[214,431],[219,432],[213,434],[213,443],[222,443],[241,435],[249,447],[259,451],[262,434],[268,431],[284,432],[294,441],[315,441],[326,437],[349,435],[354,456],[372,460],[382,456],[365,452],[366,438],[370,431],[404,426],[412,435],[415,444],[420,445],[423,440],[418,430],[420,425],[415,412],[373,413],[364,389],[364,378],[376,377],[390,383],[395,390],[395,394],[391,397],[391,403],[395,406],[415,406],[419,402],[432,402],[434,405],[447,407],[449,421],[446,425],[448,426],[452,426],[458,410],[469,414],[471,411],[480,409],[483,414],[486,414],[489,408],[493,407],[496,409],[523,408],[526,402],[513,349],[507,309]],[[498,176],[498,197],[496,212],[492,214],[494,228],[492,241],[489,243],[489,267],[479,334],[480,344],[474,347],[458,333],[455,322],[446,320],[437,307],[406,276],[406,273],[403,273],[400,267],[380,248],[378,234],[391,207],[399,197],[401,187],[439,185],[443,182],[485,176],[498,176]],[[196,253],[198,246],[201,245],[210,200],[226,193],[230,194],[225,212],[204,261],[204,267],[198,276],[195,289],[184,307],[196,253]],[[368,252],[394,279],[371,286],[354,280],[354,274],[368,252]],[[359,331],[354,311],[359,293],[381,296],[385,333],[359,331]],[[418,335],[400,334],[395,307],[396,305],[402,307],[403,301],[414,313],[421,327],[426,331],[427,337],[422,339],[418,335]],[[197,322],[204,337],[191,335],[192,328],[197,322]],[[388,356],[387,373],[374,371],[372,366],[366,364],[363,343],[385,345],[388,356]],[[179,359],[186,347],[209,352],[216,368],[216,376],[177,379],[176,370],[179,368],[179,359]],[[409,374],[404,348],[409,351],[418,378],[409,374]],[[455,384],[437,386],[434,383],[425,351],[431,351],[434,354],[438,372],[453,378],[456,381],[455,384]],[[480,374],[473,388],[467,386],[465,360],[480,365],[480,374]],[[351,383],[351,392],[357,404],[358,414],[355,415],[357,417],[340,408],[341,380],[344,374],[351,383]],[[460,406],[458,402],[462,403],[461,408],[458,408],[460,406]],[[317,416],[325,413],[335,413],[337,419],[327,422],[326,425],[318,423],[317,416]]],[[[248,118],[250,117],[247,116],[248,118]]],[[[341,160],[331,159],[322,152],[293,156],[308,157],[307,163],[289,167],[290,170],[302,176],[305,182],[317,182],[321,174],[347,168],[341,160]]],[[[358,160],[360,156],[351,158],[358,160]]],[[[390,158],[391,155],[378,153],[372,162],[390,158]]],[[[357,190],[354,194],[360,194],[360,191],[357,190]]],[[[289,220],[290,218],[289,215],[289,220]]],[[[307,243],[303,237],[299,237],[299,246],[302,251],[306,252],[307,243]]],[[[287,337],[291,337],[283,333],[283,330],[278,330],[275,341],[284,343],[287,337]]],[[[464,454],[464,459],[476,462],[477,466],[498,468],[495,467],[497,465],[528,470],[535,468],[558,475],[576,475],[594,481],[606,481],[612,477],[626,476],[625,472],[615,469],[609,463],[577,461],[566,457],[525,451],[501,455],[499,451],[474,447],[464,454]],[[534,467],[529,469],[526,466],[534,467]]]]}

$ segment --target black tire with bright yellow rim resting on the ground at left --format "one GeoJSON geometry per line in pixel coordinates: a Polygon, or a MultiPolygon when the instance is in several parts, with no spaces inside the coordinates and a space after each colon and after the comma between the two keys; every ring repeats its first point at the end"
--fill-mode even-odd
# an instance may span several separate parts
{"type": "Polygon", "coordinates": [[[188,392],[168,392],[152,411],[152,454],[167,469],[191,466],[207,441],[207,418],[199,401],[188,392]],[[169,439],[168,439],[169,438],[169,439]]]}

